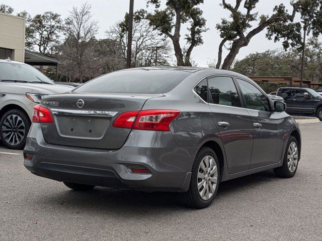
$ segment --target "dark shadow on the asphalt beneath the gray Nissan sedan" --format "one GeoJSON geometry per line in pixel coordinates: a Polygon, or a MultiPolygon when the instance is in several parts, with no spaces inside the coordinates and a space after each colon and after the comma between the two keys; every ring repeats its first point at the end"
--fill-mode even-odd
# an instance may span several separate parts
{"type": "MultiPolygon", "coordinates": [[[[237,178],[220,184],[218,196],[243,192],[244,188],[251,188],[254,185],[262,185],[265,182],[275,179],[273,171],[265,171],[246,177],[237,178]]],[[[61,183],[61,185],[63,185],[61,183]]],[[[49,195],[38,199],[37,205],[62,205],[65,208],[106,210],[119,213],[120,210],[127,210],[127,213],[135,213],[146,209],[182,209],[177,193],[153,192],[145,193],[133,190],[112,189],[96,187],[91,191],[73,191],[63,189],[61,192],[50,192],[49,195]],[[60,204],[59,204],[60,203],[60,204]]],[[[38,196],[39,197],[39,196],[38,196]]],[[[217,201],[219,201],[218,199],[217,201]]],[[[155,212],[153,211],[153,212],[155,212]]],[[[123,212],[124,213],[124,212],[123,212]]],[[[122,214],[123,215],[123,214],[122,214]]],[[[125,214],[124,214],[125,215],[125,214]]]]}

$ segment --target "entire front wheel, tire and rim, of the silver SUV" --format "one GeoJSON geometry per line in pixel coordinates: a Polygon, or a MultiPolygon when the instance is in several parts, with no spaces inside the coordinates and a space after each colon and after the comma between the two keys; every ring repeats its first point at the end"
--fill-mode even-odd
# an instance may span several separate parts
{"type": "Polygon", "coordinates": [[[8,110],[0,120],[0,139],[9,149],[22,150],[31,126],[29,116],[20,109],[8,110]]]}

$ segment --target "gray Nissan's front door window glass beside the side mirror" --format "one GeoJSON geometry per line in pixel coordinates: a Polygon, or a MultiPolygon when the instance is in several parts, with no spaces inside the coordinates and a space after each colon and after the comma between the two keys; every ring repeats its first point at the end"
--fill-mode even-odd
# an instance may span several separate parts
{"type": "Polygon", "coordinates": [[[237,79],[237,82],[243,92],[248,109],[270,111],[268,99],[258,88],[242,79],[237,79]]]}

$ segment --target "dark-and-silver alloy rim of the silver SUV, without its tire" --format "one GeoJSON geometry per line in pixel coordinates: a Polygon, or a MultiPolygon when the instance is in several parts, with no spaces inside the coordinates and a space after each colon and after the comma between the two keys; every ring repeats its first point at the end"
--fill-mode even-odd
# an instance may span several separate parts
{"type": "Polygon", "coordinates": [[[9,145],[19,145],[25,137],[26,127],[19,115],[8,115],[2,126],[3,139],[9,145]]]}

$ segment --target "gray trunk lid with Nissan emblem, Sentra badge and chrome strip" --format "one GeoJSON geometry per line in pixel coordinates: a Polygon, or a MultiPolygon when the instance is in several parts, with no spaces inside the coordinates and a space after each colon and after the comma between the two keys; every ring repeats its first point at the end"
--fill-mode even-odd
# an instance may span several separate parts
{"type": "Polygon", "coordinates": [[[131,129],[112,126],[123,112],[141,110],[146,100],[162,94],[67,93],[46,96],[53,123],[41,124],[47,143],[99,149],[119,149],[131,129]]]}

